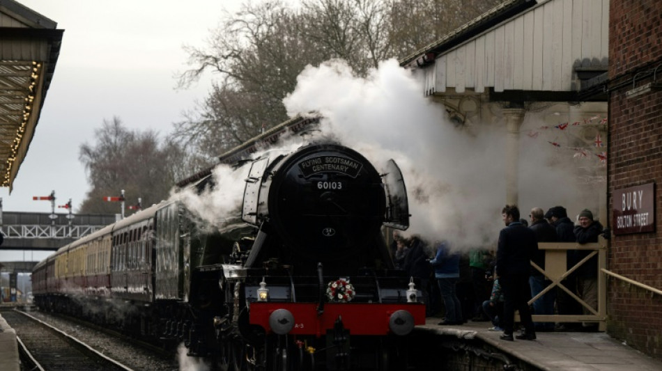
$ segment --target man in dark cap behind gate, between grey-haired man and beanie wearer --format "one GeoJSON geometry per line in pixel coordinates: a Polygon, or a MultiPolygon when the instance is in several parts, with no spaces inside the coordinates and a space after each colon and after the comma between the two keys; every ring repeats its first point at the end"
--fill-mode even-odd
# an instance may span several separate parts
{"type": "MultiPolygon", "coordinates": [[[[568,213],[565,207],[555,206],[547,211],[545,219],[556,228],[558,242],[576,242],[575,237],[575,223],[568,218],[568,213]]],[[[575,265],[576,250],[568,250],[566,255],[566,269],[571,269],[575,265]]],[[[561,285],[570,290],[573,294],[577,294],[577,278],[576,274],[571,274],[561,281],[561,285]]],[[[573,299],[561,287],[556,290],[556,307],[560,315],[580,315],[582,314],[581,307],[575,299],[573,299]]],[[[559,323],[556,327],[557,331],[573,331],[576,324],[571,322],[559,323]]]]}

